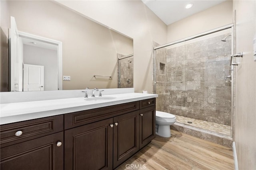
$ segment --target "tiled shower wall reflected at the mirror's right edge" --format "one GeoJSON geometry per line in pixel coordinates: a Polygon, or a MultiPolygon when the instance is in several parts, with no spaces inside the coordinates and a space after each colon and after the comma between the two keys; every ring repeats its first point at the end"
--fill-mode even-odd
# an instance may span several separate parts
{"type": "MultiPolygon", "coordinates": [[[[117,54],[118,59],[125,57],[125,55],[117,54]]],[[[120,88],[132,88],[133,87],[133,56],[119,60],[120,73],[117,69],[118,83],[120,82],[120,88]],[[120,74],[120,75],[119,75],[120,74]],[[119,80],[120,79],[120,80],[119,80]],[[129,80],[128,80],[129,79],[129,80]]]]}

